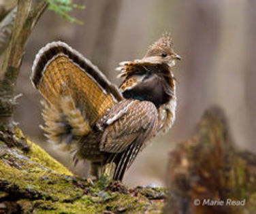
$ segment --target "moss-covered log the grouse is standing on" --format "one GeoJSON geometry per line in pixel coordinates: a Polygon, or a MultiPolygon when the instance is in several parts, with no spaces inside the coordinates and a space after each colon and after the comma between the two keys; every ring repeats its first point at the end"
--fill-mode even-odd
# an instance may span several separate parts
{"type": "Polygon", "coordinates": [[[80,179],[18,128],[0,132],[0,213],[161,213],[166,193],[80,179]]]}

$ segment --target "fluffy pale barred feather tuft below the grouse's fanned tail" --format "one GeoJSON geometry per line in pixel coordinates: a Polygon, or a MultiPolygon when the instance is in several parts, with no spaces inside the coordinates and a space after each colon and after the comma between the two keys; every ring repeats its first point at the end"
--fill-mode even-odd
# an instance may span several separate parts
{"type": "Polygon", "coordinates": [[[75,149],[74,142],[90,132],[89,122],[82,117],[79,109],[74,107],[69,96],[61,97],[59,107],[46,101],[41,103],[45,124],[40,128],[46,132],[48,141],[62,145],[63,150],[75,149]]]}

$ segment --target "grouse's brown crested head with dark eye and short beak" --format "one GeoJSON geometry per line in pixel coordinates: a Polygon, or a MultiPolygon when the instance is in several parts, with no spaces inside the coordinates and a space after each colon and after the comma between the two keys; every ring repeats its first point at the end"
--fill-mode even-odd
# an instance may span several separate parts
{"type": "Polygon", "coordinates": [[[163,37],[150,46],[142,60],[150,63],[165,63],[173,67],[176,64],[176,60],[180,59],[181,57],[173,50],[170,33],[165,33],[163,37]]]}

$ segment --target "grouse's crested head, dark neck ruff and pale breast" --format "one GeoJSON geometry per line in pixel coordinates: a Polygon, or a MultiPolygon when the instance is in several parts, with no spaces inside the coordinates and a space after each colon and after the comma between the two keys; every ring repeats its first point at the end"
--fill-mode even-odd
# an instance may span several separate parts
{"type": "Polygon", "coordinates": [[[172,37],[165,33],[153,43],[141,60],[120,63],[120,89],[126,99],[152,101],[158,110],[157,132],[167,132],[174,124],[176,111],[176,80],[172,67],[180,56],[172,48],[172,37]]]}

